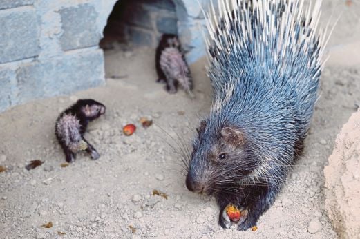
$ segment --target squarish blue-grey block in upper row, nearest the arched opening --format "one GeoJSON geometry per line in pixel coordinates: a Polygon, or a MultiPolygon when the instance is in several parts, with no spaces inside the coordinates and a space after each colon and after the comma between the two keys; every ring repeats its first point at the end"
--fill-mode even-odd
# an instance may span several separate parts
{"type": "Polygon", "coordinates": [[[97,12],[88,4],[59,10],[62,30],[62,50],[74,50],[99,44],[101,32],[97,28],[97,12]]]}

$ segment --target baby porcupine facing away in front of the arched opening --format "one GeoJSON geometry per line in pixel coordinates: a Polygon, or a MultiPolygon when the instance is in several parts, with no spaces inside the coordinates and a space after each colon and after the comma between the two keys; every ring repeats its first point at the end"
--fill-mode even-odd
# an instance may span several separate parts
{"type": "Polygon", "coordinates": [[[159,77],[157,82],[166,83],[165,89],[169,93],[176,93],[179,84],[187,93],[191,93],[193,82],[190,69],[177,35],[162,35],[156,48],[155,67],[159,77]]]}

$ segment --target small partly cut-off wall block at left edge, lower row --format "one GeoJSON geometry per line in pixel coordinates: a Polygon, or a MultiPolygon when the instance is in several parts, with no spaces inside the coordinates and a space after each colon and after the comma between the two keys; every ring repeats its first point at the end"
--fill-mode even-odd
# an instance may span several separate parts
{"type": "Polygon", "coordinates": [[[10,69],[0,70],[0,112],[11,106],[15,88],[15,72],[10,69]]]}

